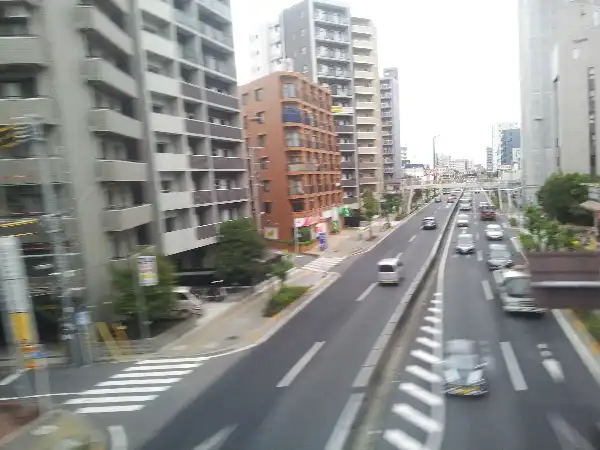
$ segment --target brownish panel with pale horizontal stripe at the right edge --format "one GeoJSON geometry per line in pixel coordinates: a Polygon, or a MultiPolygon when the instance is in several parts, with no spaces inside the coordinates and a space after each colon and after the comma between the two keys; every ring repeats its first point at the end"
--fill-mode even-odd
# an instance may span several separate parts
{"type": "Polygon", "coordinates": [[[527,252],[533,297],[551,309],[600,309],[600,252],[527,252]]]}

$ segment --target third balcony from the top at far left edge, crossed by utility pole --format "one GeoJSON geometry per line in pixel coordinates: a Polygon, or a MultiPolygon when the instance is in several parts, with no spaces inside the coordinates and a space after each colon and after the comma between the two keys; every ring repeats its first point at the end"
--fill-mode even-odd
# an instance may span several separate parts
{"type": "MultiPolygon", "coordinates": [[[[62,158],[50,158],[44,166],[48,167],[52,181],[69,182],[69,171],[62,158]]],[[[40,169],[38,158],[0,159],[0,179],[5,186],[41,184],[40,169]]]]}

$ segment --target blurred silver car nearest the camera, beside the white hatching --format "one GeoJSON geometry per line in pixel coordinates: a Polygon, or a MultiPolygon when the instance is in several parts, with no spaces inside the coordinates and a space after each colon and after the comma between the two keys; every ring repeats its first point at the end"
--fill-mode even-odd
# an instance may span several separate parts
{"type": "Polygon", "coordinates": [[[486,367],[487,363],[475,341],[453,339],[446,342],[444,393],[469,396],[487,394],[486,367]]]}

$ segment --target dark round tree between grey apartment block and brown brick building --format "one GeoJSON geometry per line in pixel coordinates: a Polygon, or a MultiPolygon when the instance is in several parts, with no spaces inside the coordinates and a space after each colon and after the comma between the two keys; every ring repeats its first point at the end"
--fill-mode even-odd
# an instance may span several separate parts
{"type": "Polygon", "coordinates": [[[265,239],[250,219],[224,222],[219,230],[215,270],[226,284],[248,284],[265,270],[265,239]]]}

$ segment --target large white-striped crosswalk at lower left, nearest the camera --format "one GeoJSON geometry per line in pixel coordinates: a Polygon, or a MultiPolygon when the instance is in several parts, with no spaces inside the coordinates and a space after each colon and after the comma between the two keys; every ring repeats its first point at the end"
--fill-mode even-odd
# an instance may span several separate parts
{"type": "Polygon", "coordinates": [[[204,360],[196,357],[139,361],[64,404],[75,407],[79,414],[139,411],[200,367],[204,360]]]}

